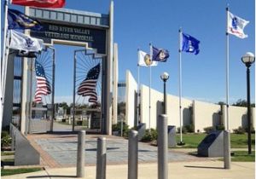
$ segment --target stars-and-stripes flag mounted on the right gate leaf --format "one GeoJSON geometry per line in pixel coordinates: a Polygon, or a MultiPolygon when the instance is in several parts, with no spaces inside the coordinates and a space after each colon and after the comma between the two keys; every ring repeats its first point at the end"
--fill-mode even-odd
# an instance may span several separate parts
{"type": "Polygon", "coordinates": [[[92,67],[84,81],[79,84],[78,95],[90,96],[89,102],[97,102],[96,83],[101,71],[100,63],[92,67]]]}

